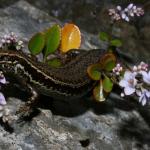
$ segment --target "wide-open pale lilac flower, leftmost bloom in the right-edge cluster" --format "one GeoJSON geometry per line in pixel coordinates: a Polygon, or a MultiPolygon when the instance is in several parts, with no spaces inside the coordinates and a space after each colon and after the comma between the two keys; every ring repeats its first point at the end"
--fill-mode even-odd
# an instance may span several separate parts
{"type": "Polygon", "coordinates": [[[135,76],[135,73],[126,71],[124,78],[119,82],[119,85],[124,88],[125,95],[131,95],[135,92],[135,86],[137,85],[135,76]]]}

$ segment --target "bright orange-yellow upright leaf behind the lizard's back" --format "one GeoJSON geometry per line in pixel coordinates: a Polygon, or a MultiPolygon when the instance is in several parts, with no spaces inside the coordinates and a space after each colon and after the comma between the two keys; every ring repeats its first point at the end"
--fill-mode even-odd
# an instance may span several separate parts
{"type": "Polygon", "coordinates": [[[74,24],[65,24],[61,31],[60,51],[68,52],[70,49],[78,49],[81,44],[81,33],[74,24]]]}

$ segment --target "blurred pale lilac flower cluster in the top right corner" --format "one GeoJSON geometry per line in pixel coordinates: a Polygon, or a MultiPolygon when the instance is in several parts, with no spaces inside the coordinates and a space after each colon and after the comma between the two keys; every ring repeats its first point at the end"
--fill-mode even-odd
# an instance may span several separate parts
{"type": "Polygon", "coordinates": [[[112,20],[117,21],[122,19],[129,22],[132,17],[144,15],[144,10],[131,3],[125,9],[122,9],[121,6],[117,6],[115,9],[109,9],[109,15],[112,20]]]}

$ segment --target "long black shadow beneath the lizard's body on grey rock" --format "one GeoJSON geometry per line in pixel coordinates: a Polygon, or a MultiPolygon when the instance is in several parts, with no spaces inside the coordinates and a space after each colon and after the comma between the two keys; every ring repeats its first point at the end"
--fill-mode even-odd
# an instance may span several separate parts
{"type": "Polygon", "coordinates": [[[54,115],[61,115],[66,117],[75,117],[92,110],[95,114],[110,114],[114,112],[115,108],[131,111],[135,109],[134,102],[128,100],[120,100],[111,96],[105,102],[96,102],[92,97],[86,96],[82,99],[61,101],[52,99],[50,97],[42,96],[38,101],[39,108],[50,109],[54,115]]]}

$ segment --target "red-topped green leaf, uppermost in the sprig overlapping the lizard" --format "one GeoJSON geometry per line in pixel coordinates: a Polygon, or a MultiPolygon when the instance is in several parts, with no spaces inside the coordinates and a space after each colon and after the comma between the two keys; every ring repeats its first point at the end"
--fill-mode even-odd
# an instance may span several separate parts
{"type": "Polygon", "coordinates": [[[116,56],[109,52],[102,56],[100,59],[101,66],[106,71],[112,71],[116,66],[116,56]]]}

